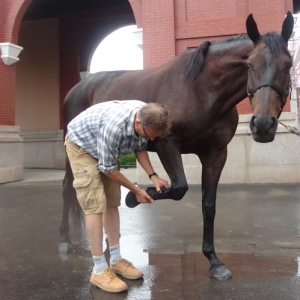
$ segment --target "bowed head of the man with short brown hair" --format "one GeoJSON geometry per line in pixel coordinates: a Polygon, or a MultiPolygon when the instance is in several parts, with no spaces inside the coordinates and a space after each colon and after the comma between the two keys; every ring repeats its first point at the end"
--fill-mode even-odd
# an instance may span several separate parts
{"type": "Polygon", "coordinates": [[[138,135],[147,139],[163,138],[170,134],[169,113],[158,103],[148,103],[138,111],[135,127],[138,135]]]}

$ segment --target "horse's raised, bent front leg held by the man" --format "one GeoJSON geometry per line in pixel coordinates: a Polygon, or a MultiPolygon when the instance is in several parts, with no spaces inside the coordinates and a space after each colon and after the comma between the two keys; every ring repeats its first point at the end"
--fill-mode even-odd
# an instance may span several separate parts
{"type": "MultiPolygon", "coordinates": [[[[154,143],[154,149],[169,175],[171,187],[164,189],[162,193],[158,193],[155,187],[148,187],[147,193],[153,200],[181,200],[188,190],[188,184],[181,159],[180,143],[175,137],[170,136],[154,143]]],[[[126,205],[133,208],[139,204],[135,195],[129,192],[126,196],[126,205]]]]}

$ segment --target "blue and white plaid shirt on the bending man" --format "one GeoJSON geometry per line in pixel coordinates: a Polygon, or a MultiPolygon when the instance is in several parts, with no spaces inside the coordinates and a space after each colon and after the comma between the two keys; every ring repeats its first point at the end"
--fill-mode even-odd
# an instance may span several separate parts
{"type": "Polygon", "coordinates": [[[69,139],[99,160],[99,170],[117,169],[118,158],[147,148],[148,139],[134,131],[136,112],[146,103],[138,100],[95,104],[68,124],[69,139]]]}

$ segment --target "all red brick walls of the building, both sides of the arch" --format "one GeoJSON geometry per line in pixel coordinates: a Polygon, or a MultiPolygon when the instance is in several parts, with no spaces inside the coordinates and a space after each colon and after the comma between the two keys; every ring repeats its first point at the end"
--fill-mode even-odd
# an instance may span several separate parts
{"type": "MultiPolygon", "coordinates": [[[[31,2],[32,0],[0,1],[0,42],[18,44],[21,20],[31,2]]],[[[187,47],[196,47],[204,40],[220,39],[245,32],[245,20],[249,13],[254,14],[262,33],[270,30],[280,31],[284,14],[287,10],[293,11],[292,0],[129,0],[129,2],[138,27],[143,28],[145,68],[166,63],[187,47]]],[[[120,13],[117,17],[122,19],[124,15],[120,13]]],[[[84,62],[79,61],[76,26],[72,28],[71,23],[68,24],[68,20],[64,18],[61,24],[62,102],[67,91],[78,82],[79,71],[82,71],[82,65],[86,65],[88,59],[85,58],[84,62]]],[[[5,66],[0,61],[0,78],[0,124],[14,125],[15,66],[5,66]]],[[[250,113],[249,102],[242,101],[238,105],[238,110],[240,113],[250,113]]],[[[284,110],[290,110],[289,102],[284,110]]]]}

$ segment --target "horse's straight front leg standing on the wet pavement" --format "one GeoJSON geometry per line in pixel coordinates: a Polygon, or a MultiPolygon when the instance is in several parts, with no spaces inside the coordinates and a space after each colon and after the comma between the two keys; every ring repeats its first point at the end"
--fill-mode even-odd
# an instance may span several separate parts
{"type": "Polygon", "coordinates": [[[199,154],[202,163],[203,254],[210,262],[210,274],[218,279],[231,277],[231,272],[217,257],[214,247],[214,220],[217,187],[227,158],[227,147],[199,154]]]}

